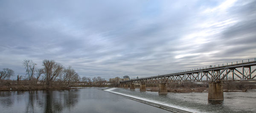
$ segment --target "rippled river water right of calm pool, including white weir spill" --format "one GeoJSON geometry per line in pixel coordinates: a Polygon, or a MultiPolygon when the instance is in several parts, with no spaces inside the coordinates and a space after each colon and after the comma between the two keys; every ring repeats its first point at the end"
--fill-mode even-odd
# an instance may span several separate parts
{"type": "Polygon", "coordinates": [[[107,90],[196,113],[256,113],[256,90],[224,92],[224,101],[217,103],[208,102],[208,93],[168,93],[167,95],[159,95],[158,92],[140,92],[140,89],[130,91],[125,88],[111,88],[107,90]]]}

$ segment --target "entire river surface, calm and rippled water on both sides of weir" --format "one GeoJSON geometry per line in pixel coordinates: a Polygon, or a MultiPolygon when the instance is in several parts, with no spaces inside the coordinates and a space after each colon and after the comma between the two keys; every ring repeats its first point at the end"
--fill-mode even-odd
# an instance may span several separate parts
{"type": "Polygon", "coordinates": [[[222,103],[208,103],[207,93],[158,95],[157,92],[140,92],[139,89],[101,89],[0,91],[0,113],[169,113],[113,93],[197,113],[256,112],[256,91],[253,90],[225,92],[222,103]]]}

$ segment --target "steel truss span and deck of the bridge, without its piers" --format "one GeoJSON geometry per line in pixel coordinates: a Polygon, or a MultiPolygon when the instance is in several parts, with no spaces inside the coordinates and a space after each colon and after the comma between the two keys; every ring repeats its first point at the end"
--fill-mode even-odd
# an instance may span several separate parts
{"type": "Polygon", "coordinates": [[[235,80],[256,80],[256,58],[121,81],[120,84],[219,82],[235,80]]]}

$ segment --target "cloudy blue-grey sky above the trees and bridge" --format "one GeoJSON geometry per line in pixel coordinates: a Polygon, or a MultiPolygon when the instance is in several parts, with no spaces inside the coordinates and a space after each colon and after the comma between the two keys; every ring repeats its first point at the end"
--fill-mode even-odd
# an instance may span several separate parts
{"type": "Polygon", "coordinates": [[[130,78],[256,58],[256,0],[0,0],[0,70],[130,78]]]}

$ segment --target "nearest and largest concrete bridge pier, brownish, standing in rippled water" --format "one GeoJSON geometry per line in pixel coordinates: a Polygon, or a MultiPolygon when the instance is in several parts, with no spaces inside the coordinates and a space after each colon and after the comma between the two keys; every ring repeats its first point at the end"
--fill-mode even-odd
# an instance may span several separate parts
{"type": "Polygon", "coordinates": [[[208,90],[208,102],[224,100],[223,83],[210,82],[208,90]]]}

